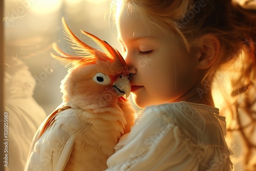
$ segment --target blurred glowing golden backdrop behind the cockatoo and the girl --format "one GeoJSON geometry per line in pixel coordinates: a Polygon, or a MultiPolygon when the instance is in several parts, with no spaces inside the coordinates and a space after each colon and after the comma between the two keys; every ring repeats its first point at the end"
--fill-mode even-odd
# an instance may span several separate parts
{"type": "MultiPolygon", "coordinates": [[[[246,4],[244,0],[236,2],[246,4]]],[[[110,0],[6,0],[4,3],[5,37],[1,38],[5,40],[5,111],[9,113],[9,167],[6,170],[18,171],[24,168],[30,142],[37,127],[62,102],[59,86],[67,74],[67,69],[51,57],[52,43],[56,42],[67,53],[72,54],[73,51],[64,39],[61,17],[65,17],[72,32],[90,46],[96,47],[80,30],[107,41],[120,52],[122,50],[117,42],[115,25],[109,20],[110,0]]],[[[256,9],[255,3],[246,9],[252,7],[256,9]]],[[[218,89],[221,86],[222,92],[226,94],[214,92],[216,106],[221,109],[222,114],[231,116],[225,114],[224,100],[234,103],[240,97],[229,99],[230,81],[226,76],[219,78],[223,79],[219,81],[222,84],[217,85],[218,89]]],[[[242,94],[239,102],[254,101],[251,106],[255,111],[256,88],[251,90],[253,100],[244,100],[247,95],[242,94]]],[[[129,99],[132,102],[131,96],[129,99]]],[[[136,111],[140,110],[135,105],[134,108],[136,111]]],[[[248,116],[252,114],[251,111],[248,112],[248,116]]],[[[247,117],[249,119],[246,121],[249,123],[252,120],[254,124],[250,124],[252,131],[245,137],[239,133],[241,127],[237,129],[237,125],[240,126],[236,119],[238,116],[240,115],[227,117],[230,133],[227,139],[232,142],[231,148],[234,152],[232,161],[236,165],[236,171],[255,170],[256,119],[247,117]],[[243,140],[246,138],[251,139],[251,143],[243,140]],[[244,163],[248,166],[245,167],[244,163]]],[[[247,115],[242,113],[241,116],[245,121],[247,115]]]]}

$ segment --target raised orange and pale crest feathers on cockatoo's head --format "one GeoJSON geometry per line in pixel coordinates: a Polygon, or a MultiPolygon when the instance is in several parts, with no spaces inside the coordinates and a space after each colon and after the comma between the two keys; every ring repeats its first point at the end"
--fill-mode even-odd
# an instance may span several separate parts
{"type": "Polygon", "coordinates": [[[53,53],[51,53],[51,55],[55,59],[59,60],[62,65],[65,65],[65,67],[72,67],[78,65],[79,63],[90,65],[96,63],[97,60],[117,60],[118,62],[121,62],[123,65],[125,65],[125,61],[120,55],[120,53],[115,48],[110,46],[107,42],[99,39],[91,33],[81,30],[81,33],[90,37],[98,45],[98,47],[100,48],[100,50],[98,50],[85,44],[78,37],[76,37],[76,35],[68,27],[63,17],[62,27],[64,29],[64,34],[67,36],[67,40],[69,40],[70,44],[72,45],[72,49],[77,50],[76,54],[78,55],[69,55],[61,51],[60,48],[56,45],[56,43],[53,43],[53,49],[56,53],[58,53],[58,55],[55,55],[53,53]]]}

